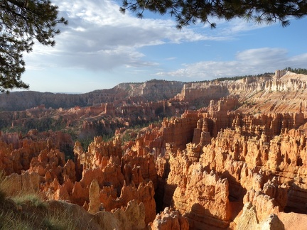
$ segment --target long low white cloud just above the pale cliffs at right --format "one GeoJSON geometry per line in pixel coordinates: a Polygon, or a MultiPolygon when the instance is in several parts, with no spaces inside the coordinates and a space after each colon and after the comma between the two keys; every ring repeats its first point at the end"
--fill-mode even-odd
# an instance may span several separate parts
{"type": "Polygon", "coordinates": [[[303,67],[307,63],[307,53],[288,57],[282,48],[249,49],[237,53],[233,61],[205,61],[184,64],[173,72],[158,72],[158,76],[193,78],[193,80],[212,80],[217,77],[233,77],[274,72],[285,67],[303,67]]]}

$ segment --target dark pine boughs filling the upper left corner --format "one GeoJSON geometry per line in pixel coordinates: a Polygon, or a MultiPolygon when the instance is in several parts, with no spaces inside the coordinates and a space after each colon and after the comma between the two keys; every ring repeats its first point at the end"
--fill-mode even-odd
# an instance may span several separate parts
{"type": "Polygon", "coordinates": [[[43,45],[55,45],[54,36],[60,31],[58,6],[49,0],[2,0],[0,1],[0,91],[28,89],[21,81],[25,71],[22,53],[31,52],[34,40],[43,45]]]}

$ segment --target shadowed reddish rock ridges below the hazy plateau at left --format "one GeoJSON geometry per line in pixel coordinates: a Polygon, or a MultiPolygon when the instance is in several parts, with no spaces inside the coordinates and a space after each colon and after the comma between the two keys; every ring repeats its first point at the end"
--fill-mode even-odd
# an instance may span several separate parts
{"type": "Polygon", "coordinates": [[[45,105],[25,111],[0,112],[0,128],[6,131],[29,129],[65,130],[80,139],[114,134],[116,128],[122,131],[129,126],[144,125],[158,121],[163,116],[180,116],[188,109],[187,102],[125,102],[102,103],[97,106],[75,106],[70,109],[52,109],[45,105]]]}

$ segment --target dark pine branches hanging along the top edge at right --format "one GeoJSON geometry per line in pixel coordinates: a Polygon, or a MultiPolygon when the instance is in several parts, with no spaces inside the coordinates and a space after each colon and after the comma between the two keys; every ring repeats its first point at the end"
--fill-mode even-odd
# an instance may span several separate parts
{"type": "Polygon", "coordinates": [[[210,18],[231,20],[244,18],[257,23],[281,22],[282,26],[289,25],[289,17],[302,18],[307,13],[307,1],[302,0],[132,0],[122,1],[119,9],[123,13],[126,9],[135,12],[139,18],[145,10],[154,13],[169,13],[176,18],[177,27],[181,29],[190,23],[209,23],[211,28],[216,24],[210,18]]]}

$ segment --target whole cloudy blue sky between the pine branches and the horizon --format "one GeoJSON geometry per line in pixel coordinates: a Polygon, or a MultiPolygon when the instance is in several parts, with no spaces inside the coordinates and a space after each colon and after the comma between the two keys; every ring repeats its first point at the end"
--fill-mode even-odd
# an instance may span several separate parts
{"type": "Polygon", "coordinates": [[[52,2],[68,26],[59,26],[55,47],[36,43],[23,55],[21,79],[32,91],[86,93],[122,82],[191,82],[307,68],[306,17],[291,19],[286,28],[235,18],[214,20],[215,29],[198,23],[178,30],[168,15],[120,13],[122,1],[52,2]]]}

